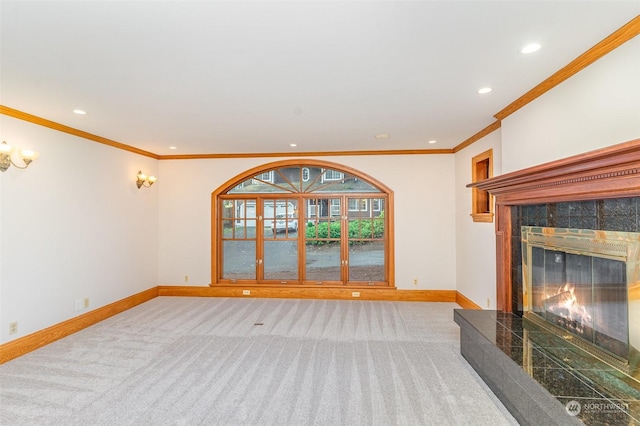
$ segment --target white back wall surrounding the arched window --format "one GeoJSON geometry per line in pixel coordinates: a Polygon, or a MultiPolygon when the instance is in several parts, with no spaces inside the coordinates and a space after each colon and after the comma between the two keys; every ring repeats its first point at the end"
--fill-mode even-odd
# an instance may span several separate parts
{"type": "MultiPolygon", "coordinates": [[[[396,287],[455,289],[452,155],[319,159],[355,168],[394,191],[396,287]]],[[[160,161],[159,284],[184,285],[189,276],[188,285],[209,285],[211,193],[234,176],[277,160],[160,161]]]]}

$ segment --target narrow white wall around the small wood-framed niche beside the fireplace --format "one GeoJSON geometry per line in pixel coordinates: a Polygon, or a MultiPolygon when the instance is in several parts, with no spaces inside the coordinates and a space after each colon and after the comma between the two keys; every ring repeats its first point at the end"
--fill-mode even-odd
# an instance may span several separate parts
{"type": "Polygon", "coordinates": [[[485,309],[496,309],[495,221],[471,218],[471,159],[493,149],[493,175],[502,173],[500,130],[455,154],[457,290],[485,309]]]}

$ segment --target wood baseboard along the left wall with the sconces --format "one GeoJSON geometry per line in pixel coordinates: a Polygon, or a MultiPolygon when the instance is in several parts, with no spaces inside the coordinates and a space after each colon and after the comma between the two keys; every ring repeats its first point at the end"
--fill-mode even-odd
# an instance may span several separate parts
{"type": "Polygon", "coordinates": [[[158,287],[126,297],[86,314],[68,319],[43,330],[0,345],[0,364],[76,333],[158,296],[158,287]]]}

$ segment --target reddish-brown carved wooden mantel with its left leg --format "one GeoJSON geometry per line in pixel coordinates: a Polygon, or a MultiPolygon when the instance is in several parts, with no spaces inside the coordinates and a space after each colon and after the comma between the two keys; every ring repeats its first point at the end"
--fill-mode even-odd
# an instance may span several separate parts
{"type": "Polygon", "coordinates": [[[496,202],[496,304],[511,312],[511,206],[640,197],[640,139],[467,185],[496,202]]]}

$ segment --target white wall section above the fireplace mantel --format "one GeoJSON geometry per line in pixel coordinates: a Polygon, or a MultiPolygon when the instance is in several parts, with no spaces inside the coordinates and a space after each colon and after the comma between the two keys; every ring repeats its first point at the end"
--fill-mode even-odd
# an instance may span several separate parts
{"type": "Polygon", "coordinates": [[[640,137],[640,37],[502,121],[503,172],[640,137]]]}

